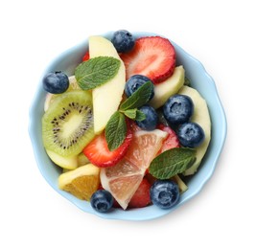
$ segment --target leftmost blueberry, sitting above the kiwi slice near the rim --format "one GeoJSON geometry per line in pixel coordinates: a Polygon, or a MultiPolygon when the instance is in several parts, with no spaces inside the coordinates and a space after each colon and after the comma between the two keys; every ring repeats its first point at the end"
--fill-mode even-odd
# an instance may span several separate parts
{"type": "Polygon", "coordinates": [[[43,88],[52,94],[60,94],[69,87],[68,77],[61,71],[49,73],[43,78],[43,88]]]}

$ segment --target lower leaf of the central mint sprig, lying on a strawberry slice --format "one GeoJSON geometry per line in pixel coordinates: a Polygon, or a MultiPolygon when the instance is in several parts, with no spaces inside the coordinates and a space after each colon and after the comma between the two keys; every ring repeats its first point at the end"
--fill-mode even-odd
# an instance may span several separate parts
{"type": "Polygon", "coordinates": [[[110,151],[123,144],[127,136],[127,129],[125,115],[116,111],[105,126],[105,140],[110,151]]]}

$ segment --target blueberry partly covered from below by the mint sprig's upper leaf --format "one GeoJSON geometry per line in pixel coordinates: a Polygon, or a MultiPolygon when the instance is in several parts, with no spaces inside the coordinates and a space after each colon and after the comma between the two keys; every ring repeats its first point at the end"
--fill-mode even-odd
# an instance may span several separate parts
{"type": "MultiPolygon", "coordinates": [[[[126,87],[125,87],[125,93],[126,95],[129,97],[130,95],[132,95],[139,87],[141,87],[143,84],[145,84],[146,82],[151,81],[151,79],[149,79],[146,76],[142,76],[142,75],[134,75],[132,77],[130,77],[126,83],[126,87]]],[[[151,81],[152,84],[152,92],[151,92],[151,99],[154,96],[154,91],[153,91],[153,83],[151,81]]],[[[150,99],[150,100],[151,100],[150,99]]]]}

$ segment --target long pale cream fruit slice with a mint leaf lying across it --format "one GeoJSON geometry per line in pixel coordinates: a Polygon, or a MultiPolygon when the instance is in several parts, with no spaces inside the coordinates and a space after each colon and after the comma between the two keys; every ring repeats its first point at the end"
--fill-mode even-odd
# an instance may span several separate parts
{"type": "MultiPolygon", "coordinates": [[[[102,36],[89,37],[90,57],[115,57],[120,59],[113,44],[102,36]]],[[[100,134],[105,125],[118,109],[126,84],[126,69],[123,61],[113,79],[92,90],[94,132],[100,134]]]]}

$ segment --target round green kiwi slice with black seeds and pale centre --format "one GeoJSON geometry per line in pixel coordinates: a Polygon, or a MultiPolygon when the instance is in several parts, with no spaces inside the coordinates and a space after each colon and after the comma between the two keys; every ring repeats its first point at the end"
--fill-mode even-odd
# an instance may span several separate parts
{"type": "Polygon", "coordinates": [[[74,90],[59,95],[42,117],[44,147],[59,155],[78,155],[93,137],[89,92],[74,90]]]}

